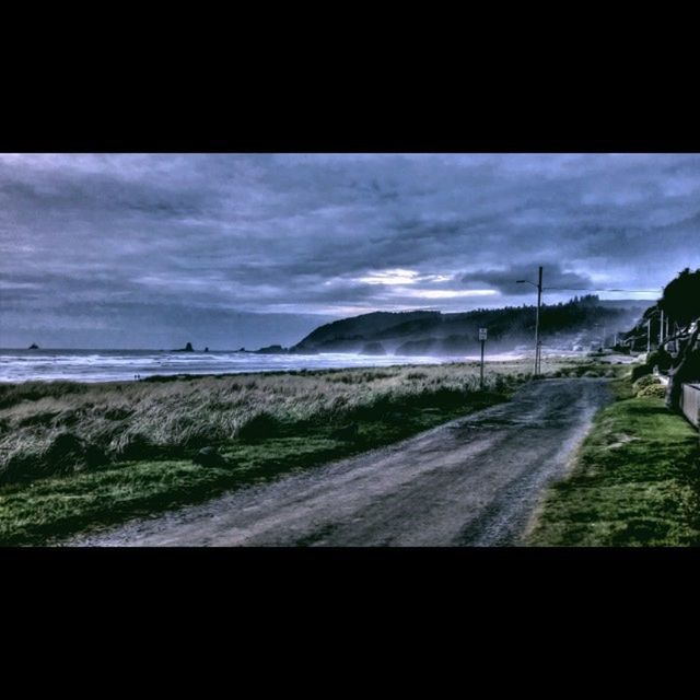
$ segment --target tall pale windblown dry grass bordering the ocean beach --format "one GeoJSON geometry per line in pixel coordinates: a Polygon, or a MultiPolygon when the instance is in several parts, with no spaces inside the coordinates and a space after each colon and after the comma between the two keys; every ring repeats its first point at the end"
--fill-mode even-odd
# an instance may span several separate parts
{"type": "MultiPolygon", "coordinates": [[[[486,390],[502,390],[524,378],[524,370],[522,363],[490,364],[486,390]]],[[[173,456],[273,435],[284,425],[371,420],[373,411],[458,401],[478,388],[475,363],[4,385],[0,482],[173,456]]]]}

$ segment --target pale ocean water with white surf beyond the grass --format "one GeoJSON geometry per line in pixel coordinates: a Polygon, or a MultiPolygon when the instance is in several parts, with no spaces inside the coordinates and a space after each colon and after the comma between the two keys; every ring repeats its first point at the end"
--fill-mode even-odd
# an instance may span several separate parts
{"type": "MultiPolygon", "coordinates": [[[[114,382],[174,374],[230,374],[326,370],[392,364],[440,364],[475,357],[401,357],[350,353],[255,354],[248,352],[165,352],[153,350],[1,350],[0,382],[69,380],[114,382]]],[[[490,358],[497,359],[497,358],[490,358]]],[[[506,358],[503,358],[506,359],[506,358]]],[[[508,359],[514,359],[510,355],[508,359]]]]}

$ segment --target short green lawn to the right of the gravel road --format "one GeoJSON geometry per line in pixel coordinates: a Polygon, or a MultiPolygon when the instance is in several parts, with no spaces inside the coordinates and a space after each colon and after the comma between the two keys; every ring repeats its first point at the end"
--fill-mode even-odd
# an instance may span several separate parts
{"type": "Polygon", "coordinates": [[[571,476],[549,489],[526,544],[621,547],[700,545],[698,433],[654,397],[602,409],[571,476]]]}

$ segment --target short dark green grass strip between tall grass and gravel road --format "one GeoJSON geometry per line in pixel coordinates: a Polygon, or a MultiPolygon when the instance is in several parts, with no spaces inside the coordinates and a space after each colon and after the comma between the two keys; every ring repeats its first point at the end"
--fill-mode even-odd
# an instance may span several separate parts
{"type": "Polygon", "coordinates": [[[8,485],[0,488],[0,545],[57,544],[79,532],[201,502],[224,490],[390,444],[506,400],[511,393],[436,393],[404,404],[375,404],[352,416],[357,434],[349,440],[339,439],[337,428],[327,423],[281,423],[273,436],[253,431],[219,444],[225,466],[203,467],[191,458],[147,459],[8,485]]]}

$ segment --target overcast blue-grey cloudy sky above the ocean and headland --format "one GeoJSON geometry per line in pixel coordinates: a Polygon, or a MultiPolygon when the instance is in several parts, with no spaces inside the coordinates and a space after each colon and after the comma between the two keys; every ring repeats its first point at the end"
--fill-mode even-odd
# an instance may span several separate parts
{"type": "Polygon", "coordinates": [[[0,154],[3,347],[290,345],[533,303],[539,265],[592,290],[700,267],[700,155],[0,154]]]}

